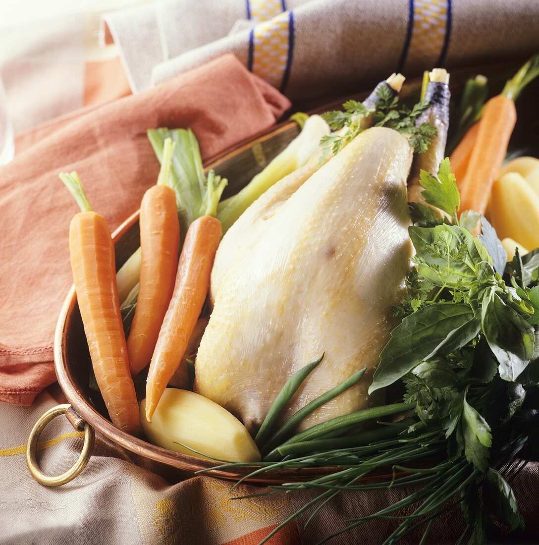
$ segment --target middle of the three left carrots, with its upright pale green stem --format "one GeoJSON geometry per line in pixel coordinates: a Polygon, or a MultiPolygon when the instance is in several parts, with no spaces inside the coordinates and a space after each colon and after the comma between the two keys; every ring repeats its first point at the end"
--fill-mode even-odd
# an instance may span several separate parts
{"type": "Polygon", "coordinates": [[[141,271],[135,315],[127,341],[132,374],[146,367],[174,289],[178,267],[180,224],[176,193],[169,187],[175,144],[165,140],[157,184],[142,198],[140,211],[141,271]]]}

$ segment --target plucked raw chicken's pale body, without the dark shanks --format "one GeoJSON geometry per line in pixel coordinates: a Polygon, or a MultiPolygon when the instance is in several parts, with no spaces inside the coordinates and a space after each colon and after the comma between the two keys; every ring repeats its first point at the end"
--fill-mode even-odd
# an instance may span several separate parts
{"type": "Polygon", "coordinates": [[[404,136],[368,129],[307,179],[283,178],[223,238],[195,386],[250,431],[287,379],[322,353],[282,419],[364,367],[358,385],[301,429],[372,402],[367,389],[411,255],[411,158],[404,136]]]}

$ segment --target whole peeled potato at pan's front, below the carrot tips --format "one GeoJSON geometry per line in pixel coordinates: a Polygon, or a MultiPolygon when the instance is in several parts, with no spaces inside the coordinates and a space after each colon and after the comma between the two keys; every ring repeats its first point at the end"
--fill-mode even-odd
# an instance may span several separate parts
{"type": "Polygon", "coordinates": [[[230,462],[260,461],[260,452],[245,426],[226,409],[198,393],[167,388],[151,423],[146,420],[146,399],[141,403],[140,413],[142,428],[154,445],[207,458],[177,444],[183,443],[208,457],[230,462]]]}

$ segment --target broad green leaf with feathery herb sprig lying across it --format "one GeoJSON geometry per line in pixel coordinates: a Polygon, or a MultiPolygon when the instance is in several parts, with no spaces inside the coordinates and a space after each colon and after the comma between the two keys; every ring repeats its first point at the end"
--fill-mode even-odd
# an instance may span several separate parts
{"type": "Polygon", "coordinates": [[[477,264],[492,264],[485,246],[462,227],[409,227],[408,232],[419,273],[435,286],[469,286],[477,278],[477,264]]]}

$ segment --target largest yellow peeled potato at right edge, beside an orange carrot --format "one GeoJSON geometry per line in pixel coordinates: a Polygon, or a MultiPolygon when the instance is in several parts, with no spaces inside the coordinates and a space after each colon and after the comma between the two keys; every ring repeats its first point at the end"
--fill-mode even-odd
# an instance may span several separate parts
{"type": "Polygon", "coordinates": [[[500,239],[539,247],[539,195],[521,174],[509,172],[494,182],[488,212],[500,239]]]}

